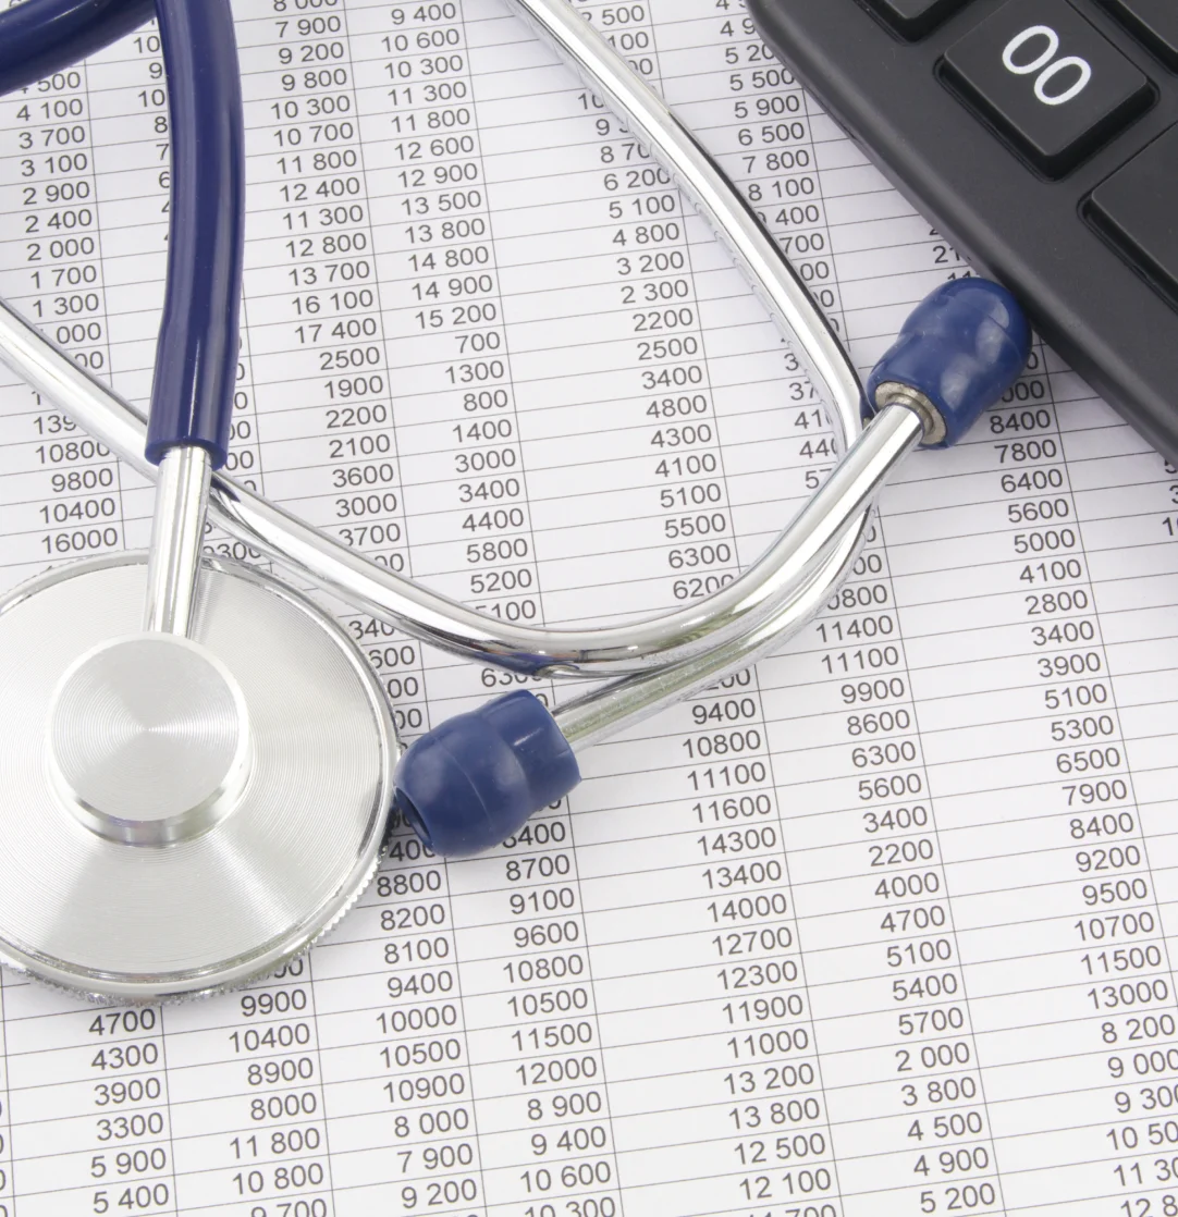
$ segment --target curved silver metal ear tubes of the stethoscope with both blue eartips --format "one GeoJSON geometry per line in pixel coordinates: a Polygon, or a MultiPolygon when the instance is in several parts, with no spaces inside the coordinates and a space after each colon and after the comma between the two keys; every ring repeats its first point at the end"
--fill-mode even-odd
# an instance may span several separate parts
{"type": "MultiPolygon", "coordinates": [[[[801,336],[800,354],[829,399],[849,452],[815,500],[734,584],[652,622],[580,632],[505,627],[375,567],[229,479],[215,481],[213,507],[231,532],[417,638],[520,672],[629,673],[551,716],[529,694],[515,694],[419,741],[398,769],[398,806],[443,853],[493,845],[531,811],[566,792],[578,780],[572,744],[591,742],[720,679],[809,619],[854,556],[866,511],[890,471],[919,443],[946,445],[959,438],[1019,374],[1030,341],[1017,305],[1002,288],[977,280],[948,285],[905,326],[876,370],[864,405],[846,350],[804,287],[661,99],[566,0],[512,5],[627,114],[634,133],[651,144],[727,241],[770,313],[801,336]],[[860,408],[880,414],[852,443],[860,408]]],[[[0,335],[12,347],[5,357],[12,366],[88,430],[113,439],[124,454],[135,447],[135,416],[125,403],[64,366],[64,357],[23,332],[11,315],[0,316],[0,335]]]]}

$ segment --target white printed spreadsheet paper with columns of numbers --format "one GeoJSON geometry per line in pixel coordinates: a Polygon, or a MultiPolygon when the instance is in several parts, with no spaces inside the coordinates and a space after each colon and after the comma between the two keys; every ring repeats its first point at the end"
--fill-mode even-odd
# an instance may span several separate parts
{"type": "MultiPolygon", "coordinates": [[[[964,271],[737,0],[577,9],[860,366],[964,271]]],[[[499,0],[236,12],[234,472],[509,619],[752,560],[831,465],[823,406],[618,120],[499,0]]],[[[167,162],[151,28],[0,101],[0,290],[139,402],[167,162]]],[[[146,483],[0,386],[4,587],[142,548],[146,483]]],[[[215,1000],[5,971],[0,1217],[1178,1213],[1176,503],[1037,348],[785,654],[589,752],[516,841],[399,832],[322,944],[215,1000]]],[[[408,736],[511,686],[333,607],[408,736]]]]}

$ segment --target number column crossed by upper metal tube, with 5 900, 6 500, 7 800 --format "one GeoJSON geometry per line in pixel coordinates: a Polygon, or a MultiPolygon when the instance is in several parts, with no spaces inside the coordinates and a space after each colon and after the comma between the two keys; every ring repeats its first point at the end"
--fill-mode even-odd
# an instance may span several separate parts
{"type": "MultiPolygon", "coordinates": [[[[767,49],[747,15],[700,4],[697,10],[666,13],[657,34],[668,100],[689,124],[703,128],[708,147],[814,287],[831,324],[841,326],[817,175],[818,135],[806,95],[780,66],[767,66],[767,49]],[[705,62],[711,71],[700,71],[705,62]],[[786,207],[789,200],[802,202],[786,207]]],[[[703,314],[706,341],[725,481],[747,563],[772,539],[790,505],[804,501],[821,483],[836,444],[796,352],[761,320],[736,276],[717,273],[717,254],[727,260],[722,251],[694,251],[697,277],[706,265],[716,297],[703,314]],[[761,369],[767,383],[757,392],[750,381],[761,369]],[[767,503],[780,506],[770,515],[767,503]]]]}

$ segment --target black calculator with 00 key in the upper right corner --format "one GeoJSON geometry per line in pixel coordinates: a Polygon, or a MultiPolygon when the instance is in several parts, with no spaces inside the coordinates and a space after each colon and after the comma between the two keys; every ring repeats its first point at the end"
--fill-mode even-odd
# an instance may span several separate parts
{"type": "Polygon", "coordinates": [[[1178,461],[1178,0],[747,0],[765,41],[1178,461]]]}

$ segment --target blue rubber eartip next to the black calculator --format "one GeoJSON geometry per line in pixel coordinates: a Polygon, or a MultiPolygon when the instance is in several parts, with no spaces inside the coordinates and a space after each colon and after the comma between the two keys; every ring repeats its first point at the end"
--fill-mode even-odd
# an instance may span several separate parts
{"type": "Polygon", "coordinates": [[[953,279],[916,305],[875,365],[868,413],[886,404],[876,398],[881,385],[914,388],[944,422],[944,434],[925,447],[952,448],[1014,385],[1030,354],[1031,325],[1005,287],[988,279],[953,279]]]}

